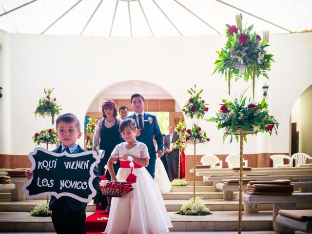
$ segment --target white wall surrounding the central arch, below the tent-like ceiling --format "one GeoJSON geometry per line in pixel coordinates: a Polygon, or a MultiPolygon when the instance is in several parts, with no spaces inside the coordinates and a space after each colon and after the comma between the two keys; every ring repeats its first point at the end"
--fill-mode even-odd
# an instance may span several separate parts
{"type": "MultiPolygon", "coordinates": [[[[224,35],[102,38],[2,34],[0,86],[6,92],[0,99],[0,154],[28,154],[35,147],[33,134],[49,126],[50,121],[40,117],[36,120],[33,114],[43,87],[54,87],[62,113],[72,112],[80,121],[103,89],[125,80],[155,83],[180,106],[188,99],[186,90],[196,83],[198,88],[204,88],[202,96],[210,103],[206,117],[214,116],[220,99],[228,98],[224,78],[212,75],[215,50],[223,47],[224,35]]],[[[261,87],[266,82],[270,86],[269,109],[280,122],[280,129],[277,136],[249,136],[244,148],[247,154],[288,152],[292,106],[312,84],[312,33],[271,35],[270,44],[268,50],[275,55],[276,62],[269,72],[270,80],[260,78],[256,82],[256,99],[261,100],[261,87]]],[[[232,83],[237,94],[248,85],[232,83]]],[[[238,153],[237,143],[223,145],[222,131],[217,131],[214,123],[202,121],[200,126],[211,141],[199,146],[197,154],[238,153]]],[[[187,149],[187,154],[192,152],[193,148],[187,149]]]]}

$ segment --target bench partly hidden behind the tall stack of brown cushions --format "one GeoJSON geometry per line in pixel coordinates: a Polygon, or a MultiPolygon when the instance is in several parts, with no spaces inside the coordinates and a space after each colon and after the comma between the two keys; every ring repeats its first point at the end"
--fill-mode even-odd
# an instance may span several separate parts
{"type": "MultiPolygon", "coordinates": [[[[308,189],[308,190],[312,189],[312,181],[292,182],[292,184],[294,184],[295,189],[308,189]]],[[[247,189],[246,185],[247,183],[243,184],[244,192],[247,189]]],[[[230,200],[233,200],[233,192],[239,190],[239,185],[238,183],[229,183],[229,184],[217,183],[215,185],[215,188],[223,191],[223,200],[230,201],[230,200]]],[[[308,192],[308,191],[305,191],[305,192],[308,192]]]]}

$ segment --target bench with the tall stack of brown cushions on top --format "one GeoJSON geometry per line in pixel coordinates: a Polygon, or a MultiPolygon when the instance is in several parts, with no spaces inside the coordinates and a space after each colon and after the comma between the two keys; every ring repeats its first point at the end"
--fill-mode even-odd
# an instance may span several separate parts
{"type": "MultiPolygon", "coordinates": [[[[236,196],[238,200],[239,196],[236,196]]],[[[293,193],[292,195],[248,195],[243,194],[242,200],[244,202],[244,211],[247,213],[258,212],[258,203],[273,203],[273,230],[276,233],[281,233],[284,228],[276,222],[276,216],[279,210],[295,210],[296,203],[311,203],[312,193],[293,193]],[[253,204],[254,207],[246,204],[253,204]],[[246,209],[245,209],[246,207],[246,209]],[[253,208],[256,208],[253,210],[253,208]]],[[[294,234],[294,232],[293,232],[294,234]]]]}

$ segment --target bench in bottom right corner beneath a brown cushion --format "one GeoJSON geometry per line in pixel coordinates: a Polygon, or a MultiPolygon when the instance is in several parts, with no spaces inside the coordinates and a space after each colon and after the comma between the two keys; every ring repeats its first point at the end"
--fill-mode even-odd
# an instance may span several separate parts
{"type": "Polygon", "coordinates": [[[312,233],[312,220],[301,221],[298,219],[286,217],[284,215],[277,215],[276,222],[284,227],[280,229],[283,234],[294,234],[295,231],[301,231],[304,233],[312,233]]]}

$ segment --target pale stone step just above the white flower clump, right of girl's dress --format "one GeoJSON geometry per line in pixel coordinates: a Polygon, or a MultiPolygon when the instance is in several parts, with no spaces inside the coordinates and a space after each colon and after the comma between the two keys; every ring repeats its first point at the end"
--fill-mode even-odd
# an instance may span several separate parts
{"type": "MultiPolygon", "coordinates": [[[[222,199],[221,192],[196,192],[195,196],[200,196],[202,199],[222,199]]],[[[169,192],[162,194],[164,200],[187,200],[193,197],[193,192],[169,192]]]]}

